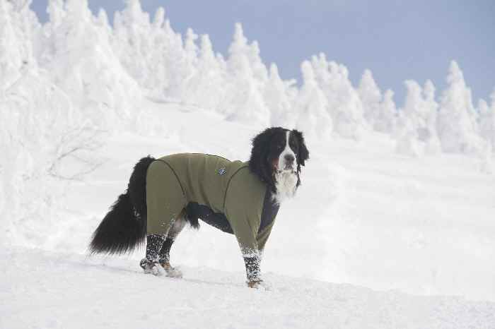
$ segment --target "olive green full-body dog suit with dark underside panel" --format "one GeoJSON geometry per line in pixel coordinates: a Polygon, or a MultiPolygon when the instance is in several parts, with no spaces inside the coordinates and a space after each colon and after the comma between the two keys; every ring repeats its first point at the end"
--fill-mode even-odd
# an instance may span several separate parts
{"type": "Polygon", "coordinates": [[[279,205],[248,162],[182,153],[152,162],[146,174],[148,234],[168,234],[183,209],[235,234],[245,256],[264,249],[279,205]]]}

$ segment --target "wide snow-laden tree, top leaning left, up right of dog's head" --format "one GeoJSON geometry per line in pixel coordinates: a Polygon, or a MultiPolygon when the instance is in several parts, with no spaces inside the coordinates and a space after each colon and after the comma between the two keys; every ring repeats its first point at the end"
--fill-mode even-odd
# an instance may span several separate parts
{"type": "Polygon", "coordinates": [[[327,98],[333,131],[344,138],[361,138],[366,128],[363,104],[352,87],[347,68],[334,61],[328,62],[325,54],[313,56],[311,64],[315,81],[327,98]]]}

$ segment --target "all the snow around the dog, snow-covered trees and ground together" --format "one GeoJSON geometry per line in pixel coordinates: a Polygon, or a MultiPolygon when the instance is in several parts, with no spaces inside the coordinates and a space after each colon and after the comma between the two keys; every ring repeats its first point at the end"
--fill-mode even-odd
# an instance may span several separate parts
{"type": "Polygon", "coordinates": [[[282,80],[241,25],[223,59],[138,0],[113,27],[76,0],[40,25],[29,3],[0,0],[0,328],[495,328],[495,92],[474,108],[457,63],[440,99],[409,81],[397,110],[325,54],[282,80]],[[140,157],[247,160],[269,124],[310,150],[264,253],[272,289],[245,287],[208,225],[173,247],[182,280],[141,273],[142,249],[86,255],[140,157]]]}

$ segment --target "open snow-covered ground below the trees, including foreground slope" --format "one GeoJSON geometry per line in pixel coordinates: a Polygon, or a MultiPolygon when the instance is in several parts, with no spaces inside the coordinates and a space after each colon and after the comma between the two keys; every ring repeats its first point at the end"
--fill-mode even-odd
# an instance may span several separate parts
{"type": "Polygon", "coordinates": [[[142,249],[86,256],[139,157],[243,160],[257,133],[195,107],[143,108],[161,123],[154,136],[110,138],[101,166],[68,183],[55,224],[40,218],[36,243],[2,251],[1,328],[495,328],[495,177],[473,157],[397,155],[385,135],[308,141],[303,186],[262,263],[271,291],[245,287],[235,239],[208,225],[174,245],[183,280],[142,274],[142,249]]]}

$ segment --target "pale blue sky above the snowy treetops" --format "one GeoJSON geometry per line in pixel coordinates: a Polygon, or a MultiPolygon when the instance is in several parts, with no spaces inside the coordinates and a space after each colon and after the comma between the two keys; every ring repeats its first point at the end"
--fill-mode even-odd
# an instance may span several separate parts
{"type": "MultiPolygon", "coordinates": [[[[47,0],[33,1],[40,20],[47,19],[47,0]]],[[[110,18],[123,8],[120,0],[89,0],[94,12],[103,7],[110,18]]],[[[246,37],[258,40],[262,59],[275,62],[282,78],[300,80],[301,61],[325,52],[327,59],[349,68],[354,85],[370,68],[382,90],[404,98],[403,80],[445,87],[451,59],[479,97],[495,87],[494,0],[141,0],[145,11],[165,7],[177,32],[190,27],[211,37],[216,52],[226,54],[235,22],[246,37]]]]}

